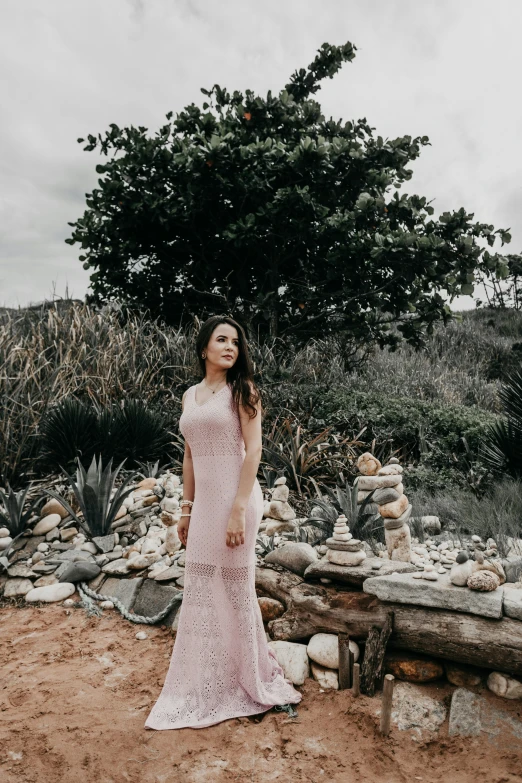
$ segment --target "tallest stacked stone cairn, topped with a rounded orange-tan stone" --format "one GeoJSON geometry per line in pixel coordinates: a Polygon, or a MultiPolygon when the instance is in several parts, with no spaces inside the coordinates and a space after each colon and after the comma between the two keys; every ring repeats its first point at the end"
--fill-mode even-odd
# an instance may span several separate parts
{"type": "MultiPolygon", "coordinates": [[[[384,466],[379,460],[365,452],[357,460],[362,473],[358,476],[357,502],[359,504],[373,491],[372,501],[377,512],[384,519],[384,535],[390,560],[411,562],[411,533],[406,524],[411,516],[411,503],[404,494],[402,484],[402,466],[396,457],[392,457],[384,466]]],[[[369,503],[368,506],[372,506],[369,503]]],[[[368,508],[367,506],[367,508],[368,508]]],[[[372,511],[372,508],[368,508],[372,511]]]]}

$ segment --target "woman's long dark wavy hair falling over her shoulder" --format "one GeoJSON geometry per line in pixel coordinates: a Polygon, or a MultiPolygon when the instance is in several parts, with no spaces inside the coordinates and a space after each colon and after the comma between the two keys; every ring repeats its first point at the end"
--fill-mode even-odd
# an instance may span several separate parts
{"type": "MultiPolygon", "coordinates": [[[[241,404],[249,412],[248,415],[251,419],[257,415],[257,408],[255,407],[261,399],[261,394],[254,381],[254,367],[248,351],[248,343],[245,335],[245,330],[234,318],[229,315],[211,315],[210,318],[201,324],[201,327],[196,337],[196,353],[201,370],[202,378],[205,377],[205,360],[201,354],[205,351],[212,332],[220,324],[230,324],[237,329],[237,336],[239,339],[238,355],[234,362],[234,366],[227,370],[227,383],[232,387],[232,396],[236,405],[241,404]]],[[[261,405],[261,411],[263,407],[261,405]]]]}

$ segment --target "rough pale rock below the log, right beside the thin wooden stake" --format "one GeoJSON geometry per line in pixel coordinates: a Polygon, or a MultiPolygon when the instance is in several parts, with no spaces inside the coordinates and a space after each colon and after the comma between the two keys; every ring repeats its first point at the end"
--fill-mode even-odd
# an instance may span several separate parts
{"type": "Polygon", "coordinates": [[[400,731],[413,729],[417,734],[437,732],[446,720],[444,702],[434,699],[409,682],[396,682],[393,689],[392,723],[400,731]]]}

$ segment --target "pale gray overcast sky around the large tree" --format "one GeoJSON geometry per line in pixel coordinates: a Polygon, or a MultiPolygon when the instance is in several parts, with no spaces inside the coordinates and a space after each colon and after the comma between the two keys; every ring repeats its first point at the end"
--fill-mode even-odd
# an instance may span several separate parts
{"type": "Polygon", "coordinates": [[[316,96],[326,116],[429,136],[400,192],[510,228],[493,249],[521,252],[521,30],[520,0],[2,0],[0,305],[88,290],[64,240],[101,161],[78,137],[153,134],[215,82],[278,91],[325,41],[357,47],[316,96]]]}

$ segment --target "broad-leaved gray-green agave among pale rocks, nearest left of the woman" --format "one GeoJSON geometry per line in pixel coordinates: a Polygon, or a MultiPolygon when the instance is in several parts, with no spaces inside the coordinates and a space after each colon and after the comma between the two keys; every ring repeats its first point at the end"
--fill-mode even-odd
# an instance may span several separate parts
{"type": "Polygon", "coordinates": [[[136,473],[131,473],[123,484],[118,487],[111,500],[114,483],[124,462],[125,460],[118,465],[116,470],[111,472],[111,457],[102,472],[101,455],[99,462],[96,461],[96,456],[94,456],[89,466],[89,470],[86,472],[85,468],[78,460],[76,481],[64,471],[83,514],[83,518],[78,516],[69,503],[57,492],[54,492],[51,489],[46,489],[44,492],[59,500],[88,536],[91,538],[94,538],[95,536],[106,536],[111,532],[111,525],[114,522],[121,504],[132,492],[132,487],[130,489],[125,489],[125,487],[136,477],[136,473]]]}

